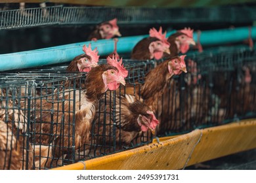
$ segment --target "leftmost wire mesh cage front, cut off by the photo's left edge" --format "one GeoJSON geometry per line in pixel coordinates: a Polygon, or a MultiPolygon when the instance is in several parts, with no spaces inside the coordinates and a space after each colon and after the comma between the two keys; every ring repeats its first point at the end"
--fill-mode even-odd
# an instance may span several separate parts
{"type": "Polygon", "coordinates": [[[30,105],[33,81],[0,80],[0,169],[32,169],[30,105]]]}

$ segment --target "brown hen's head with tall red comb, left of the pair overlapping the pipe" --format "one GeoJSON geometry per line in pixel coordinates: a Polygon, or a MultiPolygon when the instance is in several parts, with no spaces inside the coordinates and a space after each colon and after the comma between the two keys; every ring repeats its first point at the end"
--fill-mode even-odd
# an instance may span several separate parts
{"type": "Polygon", "coordinates": [[[169,42],[165,38],[165,33],[162,34],[162,29],[157,31],[155,28],[150,29],[150,37],[146,37],[139,41],[131,53],[131,59],[161,59],[163,53],[170,54],[169,42]]]}

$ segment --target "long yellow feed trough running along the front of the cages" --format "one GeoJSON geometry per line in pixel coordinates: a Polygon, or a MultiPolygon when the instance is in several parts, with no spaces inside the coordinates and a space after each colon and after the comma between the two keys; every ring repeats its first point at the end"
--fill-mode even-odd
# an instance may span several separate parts
{"type": "Polygon", "coordinates": [[[183,169],[188,165],[253,148],[256,148],[256,119],[163,137],[160,142],[153,141],[139,148],[53,170],[183,169]]]}

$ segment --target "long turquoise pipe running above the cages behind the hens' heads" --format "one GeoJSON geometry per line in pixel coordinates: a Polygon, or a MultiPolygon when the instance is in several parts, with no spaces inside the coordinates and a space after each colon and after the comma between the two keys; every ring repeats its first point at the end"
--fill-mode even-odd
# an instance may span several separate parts
{"type": "MultiPolygon", "coordinates": [[[[171,35],[172,33],[175,33],[175,31],[167,33],[167,36],[171,35]]],[[[248,27],[202,31],[200,35],[200,42],[202,46],[241,42],[247,39],[248,35],[248,27]]],[[[252,27],[251,36],[253,39],[256,39],[256,26],[252,27]]],[[[117,52],[120,54],[131,52],[135,44],[137,44],[137,42],[144,37],[148,37],[148,35],[119,38],[119,41],[117,42],[117,52]]],[[[196,42],[197,38],[197,33],[194,33],[194,39],[196,42]]],[[[98,40],[96,42],[77,42],[74,44],[54,46],[51,48],[42,48],[11,54],[1,54],[0,71],[39,67],[43,65],[71,61],[75,56],[83,54],[82,46],[84,44],[88,45],[90,42],[93,49],[95,47],[98,48],[99,55],[101,56],[108,55],[114,51],[114,41],[110,39],[98,40]]]]}

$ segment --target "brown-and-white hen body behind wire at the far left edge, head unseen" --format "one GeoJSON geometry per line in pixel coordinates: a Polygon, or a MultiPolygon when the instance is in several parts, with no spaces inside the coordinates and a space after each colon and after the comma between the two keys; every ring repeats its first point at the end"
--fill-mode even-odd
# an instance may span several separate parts
{"type": "MultiPolygon", "coordinates": [[[[30,143],[28,143],[27,138],[27,130],[28,130],[28,118],[24,114],[24,101],[18,101],[16,99],[16,91],[12,90],[1,90],[0,89],[0,120],[6,122],[7,128],[11,129],[9,131],[10,135],[8,137],[13,137],[13,141],[15,141],[15,148],[16,150],[12,150],[12,146],[6,144],[5,148],[9,146],[7,150],[14,151],[19,154],[19,161],[17,166],[20,168],[17,169],[32,169],[33,165],[33,148],[30,143]],[[18,107],[20,105],[20,107],[18,107]],[[20,165],[18,165],[20,164],[20,165]]],[[[20,99],[20,98],[19,98],[20,99]]],[[[28,102],[28,101],[26,101],[28,102]]],[[[7,130],[6,127],[3,125],[3,130],[7,130]]],[[[4,133],[3,131],[3,133],[4,133]]],[[[2,134],[3,135],[3,134],[2,134]]],[[[3,137],[4,138],[4,137],[3,137]]],[[[7,141],[9,141],[7,139],[7,141]]],[[[2,143],[8,143],[7,141],[4,142],[2,139],[2,143]]],[[[14,145],[14,144],[12,144],[14,145]]],[[[1,148],[0,148],[1,149],[1,148]]],[[[5,157],[5,156],[1,156],[5,157]]],[[[12,159],[14,162],[11,164],[15,164],[16,158],[12,159]],[[15,159],[15,160],[14,160],[15,159]]],[[[12,169],[12,167],[9,167],[12,169]]]]}

